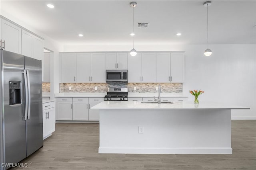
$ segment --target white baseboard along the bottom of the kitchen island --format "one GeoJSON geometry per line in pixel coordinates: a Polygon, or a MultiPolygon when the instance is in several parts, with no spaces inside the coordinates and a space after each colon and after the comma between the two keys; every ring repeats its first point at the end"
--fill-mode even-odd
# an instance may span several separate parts
{"type": "Polygon", "coordinates": [[[118,154],[232,154],[232,148],[106,148],[99,153],[118,154]]]}

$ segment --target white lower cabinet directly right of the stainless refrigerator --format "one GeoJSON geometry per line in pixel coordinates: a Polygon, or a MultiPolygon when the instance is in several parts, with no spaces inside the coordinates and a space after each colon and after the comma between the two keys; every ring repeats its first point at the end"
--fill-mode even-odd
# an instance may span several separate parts
{"type": "Polygon", "coordinates": [[[51,136],[54,131],[55,131],[55,102],[44,103],[43,104],[44,139],[51,136]]]}

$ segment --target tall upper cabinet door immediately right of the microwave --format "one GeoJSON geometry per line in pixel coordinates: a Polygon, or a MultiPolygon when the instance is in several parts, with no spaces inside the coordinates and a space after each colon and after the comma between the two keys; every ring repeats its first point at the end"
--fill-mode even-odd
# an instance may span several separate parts
{"type": "Polygon", "coordinates": [[[141,83],[141,53],[136,56],[128,54],[128,83],[141,83]]]}

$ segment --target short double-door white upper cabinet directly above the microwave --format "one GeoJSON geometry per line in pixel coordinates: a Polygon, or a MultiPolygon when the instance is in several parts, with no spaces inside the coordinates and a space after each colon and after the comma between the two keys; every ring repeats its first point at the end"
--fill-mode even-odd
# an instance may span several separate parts
{"type": "Polygon", "coordinates": [[[106,70],[127,70],[127,53],[106,53],[106,70]]]}

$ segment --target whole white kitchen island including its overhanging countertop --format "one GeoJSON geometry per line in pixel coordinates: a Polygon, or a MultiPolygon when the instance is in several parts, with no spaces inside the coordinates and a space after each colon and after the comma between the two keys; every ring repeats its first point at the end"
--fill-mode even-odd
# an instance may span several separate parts
{"type": "Polygon", "coordinates": [[[231,109],[214,102],[104,101],[99,153],[232,154],[231,109]]]}

